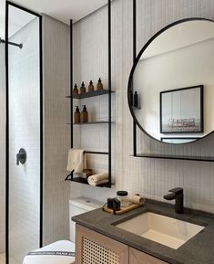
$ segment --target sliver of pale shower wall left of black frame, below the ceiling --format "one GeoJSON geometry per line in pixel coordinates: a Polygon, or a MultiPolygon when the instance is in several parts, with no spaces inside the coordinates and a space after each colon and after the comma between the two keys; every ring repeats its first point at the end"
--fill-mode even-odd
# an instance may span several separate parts
{"type": "Polygon", "coordinates": [[[5,251],[5,44],[0,44],[0,253],[5,251]]]}

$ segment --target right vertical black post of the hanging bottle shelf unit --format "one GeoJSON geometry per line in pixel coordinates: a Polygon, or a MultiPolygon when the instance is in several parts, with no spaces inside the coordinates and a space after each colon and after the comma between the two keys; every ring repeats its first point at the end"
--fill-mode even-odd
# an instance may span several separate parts
{"type": "Polygon", "coordinates": [[[108,185],[111,186],[111,0],[107,3],[108,31],[108,185]]]}

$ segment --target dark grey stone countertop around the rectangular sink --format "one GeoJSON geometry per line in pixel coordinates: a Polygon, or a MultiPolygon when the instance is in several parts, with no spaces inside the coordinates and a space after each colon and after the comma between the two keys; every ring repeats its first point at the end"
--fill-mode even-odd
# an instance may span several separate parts
{"type": "Polygon", "coordinates": [[[175,206],[147,199],[144,206],[121,216],[108,214],[99,208],[74,216],[73,220],[83,227],[171,264],[214,264],[214,215],[209,213],[185,208],[184,214],[178,215],[175,213],[175,206]],[[118,223],[145,212],[170,216],[205,228],[180,248],[173,249],[115,227],[118,223]]]}

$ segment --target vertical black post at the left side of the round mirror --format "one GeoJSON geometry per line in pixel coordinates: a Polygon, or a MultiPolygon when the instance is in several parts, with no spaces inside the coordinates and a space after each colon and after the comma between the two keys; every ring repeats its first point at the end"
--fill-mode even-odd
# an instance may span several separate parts
{"type": "MultiPolygon", "coordinates": [[[[136,32],[136,11],[137,11],[137,4],[136,0],[133,0],[133,63],[136,60],[136,49],[137,49],[137,32],[136,32]]],[[[134,90],[133,90],[134,94],[134,90]]],[[[133,155],[137,156],[137,125],[136,122],[133,120],[133,155]]]]}

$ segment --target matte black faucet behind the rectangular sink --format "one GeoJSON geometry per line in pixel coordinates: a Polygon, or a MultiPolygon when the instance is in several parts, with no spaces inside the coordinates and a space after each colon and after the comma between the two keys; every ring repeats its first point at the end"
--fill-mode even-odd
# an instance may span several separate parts
{"type": "Polygon", "coordinates": [[[177,214],[183,214],[184,212],[184,193],[183,189],[180,187],[174,188],[169,190],[168,192],[172,194],[164,195],[164,199],[166,200],[176,200],[176,213],[177,214]]]}

